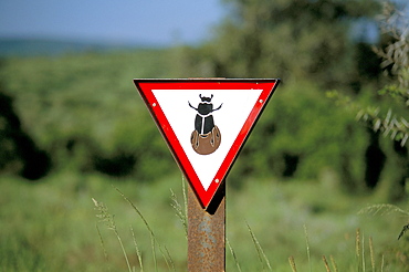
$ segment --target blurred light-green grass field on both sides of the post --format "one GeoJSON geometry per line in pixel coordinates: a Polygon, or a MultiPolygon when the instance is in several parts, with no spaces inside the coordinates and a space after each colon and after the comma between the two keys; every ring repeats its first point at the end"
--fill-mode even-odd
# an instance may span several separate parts
{"type": "MultiPolygon", "coordinates": [[[[293,263],[296,271],[398,272],[408,265],[408,236],[397,239],[408,218],[358,215],[377,202],[374,196],[348,196],[326,180],[249,179],[240,190],[232,182],[227,271],[294,271],[293,263]]],[[[183,215],[178,175],[150,184],[75,172],[34,184],[2,176],[0,271],[186,271],[175,201],[183,215]],[[116,233],[96,217],[92,198],[108,208],[116,233]]]]}

